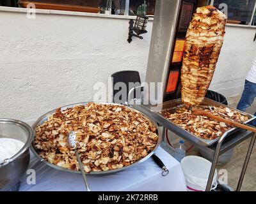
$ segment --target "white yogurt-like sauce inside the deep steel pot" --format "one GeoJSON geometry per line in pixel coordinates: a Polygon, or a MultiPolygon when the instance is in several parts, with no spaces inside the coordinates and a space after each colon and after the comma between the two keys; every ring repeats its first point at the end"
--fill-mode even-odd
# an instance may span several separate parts
{"type": "Polygon", "coordinates": [[[0,138],[0,163],[14,156],[24,145],[25,143],[20,140],[0,138]]]}

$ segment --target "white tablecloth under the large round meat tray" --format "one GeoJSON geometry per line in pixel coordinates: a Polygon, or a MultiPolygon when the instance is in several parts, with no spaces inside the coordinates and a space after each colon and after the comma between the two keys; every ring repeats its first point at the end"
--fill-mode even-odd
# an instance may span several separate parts
{"type": "MultiPolygon", "coordinates": [[[[161,158],[170,173],[163,177],[159,166],[152,158],[112,175],[88,175],[92,191],[186,191],[186,182],[180,163],[159,147],[156,155],[161,158]]],[[[55,170],[38,161],[31,154],[29,168],[36,172],[36,184],[21,179],[20,191],[84,191],[84,182],[79,173],[55,170]]]]}

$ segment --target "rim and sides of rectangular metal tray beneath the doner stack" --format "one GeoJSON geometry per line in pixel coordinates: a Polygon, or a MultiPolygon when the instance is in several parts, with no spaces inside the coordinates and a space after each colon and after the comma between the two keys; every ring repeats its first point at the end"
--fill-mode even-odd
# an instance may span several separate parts
{"type": "MultiPolygon", "coordinates": [[[[247,120],[246,122],[244,122],[245,124],[248,124],[250,122],[252,122],[252,120],[255,120],[256,117],[249,114],[249,113],[245,113],[245,112],[241,112],[240,110],[237,110],[236,108],[232,108],[230,106],[226,106],[223,105],[222,103],[218,103],[216,101],[213,101],[211,99],[205,98],[204,101],[202,102],[202,105],[205,106],[222,106],[222,107],[228,107],[230,108],[230,110],[235,110],[237,112],[242,113],[243,115],[246,115],[249,120],[247,120]]],[[[173,133],[181,136],[182,138],[196,143],[200,146],[204,146],[204,147],[209,147],[211,145],[213,145],[214,143],[218,142],[218,140],[220,138],[216,138],[215,140],[206,140],[204,138],[199,138],[198,136],[193,135],[192,133],[190,133],[189,131],[186,131],[186,129],[181,128],[180,126],[177,126],[176,124],[174,124],[173,122],[170,122],[170,120],[166,119],[163,116],[163,112],[166,110],[170,110],[175,112],[175,110],[177,108],[180,108],[184,105],[182,105],[182,101],[181,99],[175,99],[172,101],[166,101],[161,105],[153,105],[153,106],[147,106],[147,108],[144,106],[144,108],[149,111],[152,115],[152,117],[154,117],[154,119],[156,119],[156,122],[158,122],[159,124],[161,124],[162,126],[164,126],[165,128],[169,129],[170,131],[172,131],[173,133]]],[[[226,131],[224,134],[232,134],[235,131],[239,130],[240,128],[232,128],[229,129],[228,131],[226,131]]]]}

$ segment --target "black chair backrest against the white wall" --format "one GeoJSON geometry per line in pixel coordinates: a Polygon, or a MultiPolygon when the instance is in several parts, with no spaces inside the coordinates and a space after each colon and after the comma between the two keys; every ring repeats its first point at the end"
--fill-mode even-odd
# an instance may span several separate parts
{"type": "MultiPolygon", "coordinates": [[[[111,75],[113,85],[113,102],[124,104],[132,87],[138,87],[141,84],[140,73],[138,71],[118,71],[111,75]],[[120,90],[122,89],[121,94],[120,90]],[[124,91],[124,92],[123,92],[124,91]]],[[[134,98],[140,98],[140,94],[133,93],[134,98]]]]}

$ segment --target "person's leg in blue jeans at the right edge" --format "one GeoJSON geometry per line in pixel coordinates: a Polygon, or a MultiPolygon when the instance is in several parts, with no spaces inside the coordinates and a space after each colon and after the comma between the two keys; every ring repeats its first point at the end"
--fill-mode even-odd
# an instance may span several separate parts
{"type": "Polygon", "coordinates": [[[246,108],[252,105],[255,97],[256,97],[256,84],[245,80],[244,91],[239,103],[237,104],[237,109],[241,111],[245,111],[246,108]]]}

